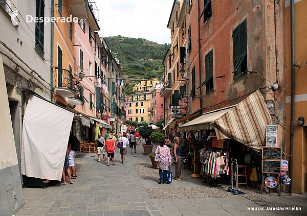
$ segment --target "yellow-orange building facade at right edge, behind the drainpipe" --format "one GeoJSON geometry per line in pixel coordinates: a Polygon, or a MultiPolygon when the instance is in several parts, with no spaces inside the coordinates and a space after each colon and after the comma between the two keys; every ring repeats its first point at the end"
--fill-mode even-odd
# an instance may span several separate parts
{"type": "MultiPolygon", "coordinates": [[[[307,191],[307,31],[305,13],[307,0],[294,1],[294,35],[295,35],[295,117],[293,141],[293,193],[307,191]],[[303,117],[305,123],[298,126],[298,118],[303,117]]],[[[290,1],[286,1],[286,50],[287,52],[287,97],[286,125],[290,126],[291,116],[291,13],[290,1]]],[[[286,127],[287,127],[286,126],[286,127]]],[[[290,155],[290,127],[286,133],[286,155],[290,155]]]]}

